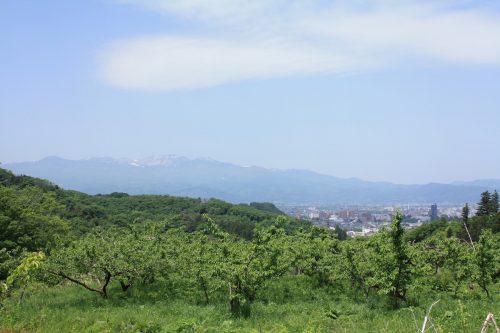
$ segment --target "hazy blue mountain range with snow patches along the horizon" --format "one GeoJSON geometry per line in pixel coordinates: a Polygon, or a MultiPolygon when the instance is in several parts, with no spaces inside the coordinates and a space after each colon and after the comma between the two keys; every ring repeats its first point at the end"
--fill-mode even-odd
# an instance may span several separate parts
{"type": "Polygon", "coordinates": [[[401,185],[338,178],[307,170],[243,167],[208,158],[176,155],[83,160],[47,157],[34,162],[2,164],[1,167],[89,194],[169,194],[281,205],[463,204],[476,202],[485,190],[500,189],[498,179],[401,185]]]}

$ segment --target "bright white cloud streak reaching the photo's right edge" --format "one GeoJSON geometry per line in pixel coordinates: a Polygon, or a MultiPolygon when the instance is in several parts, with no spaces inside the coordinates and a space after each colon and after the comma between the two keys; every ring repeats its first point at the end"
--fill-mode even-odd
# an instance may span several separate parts
{"type": "Polygon", "coordinates": [[[500,64],[500,16],[479,11],[442,12],[429,5],[368,13],[330,11],[306,18],[311,35],[387,56],[423,56],[464,64],[500,64]]]}

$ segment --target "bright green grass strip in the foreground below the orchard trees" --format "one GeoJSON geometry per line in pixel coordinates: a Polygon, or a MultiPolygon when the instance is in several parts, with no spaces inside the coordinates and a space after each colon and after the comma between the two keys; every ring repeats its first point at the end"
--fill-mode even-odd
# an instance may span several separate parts
{"type": "Polygon", "coordinates": [[[263,291],[264,302],[253,305],[250,319],[231,318],[223,301],[202,305],[195,295],[158,290],[164,289],[150,286],[123,294],[114,286],[110,299],[103,300],[76,286],[41,289],[21,304],[11,298],[0,309],[0,327],[26,332],[416,332],[437,298],[432,318],[439,332],[478,332],[488,312],[500,317],[498,285],[492,300],[479,291],[469,291],[464,299],[434,293],[421,295],[412,308],[391,310],[383,299],[367,302],[333,289],[311,292],[277,281],[263,291]],[[329,317],[332,312],[337,319],[329,317]]]}

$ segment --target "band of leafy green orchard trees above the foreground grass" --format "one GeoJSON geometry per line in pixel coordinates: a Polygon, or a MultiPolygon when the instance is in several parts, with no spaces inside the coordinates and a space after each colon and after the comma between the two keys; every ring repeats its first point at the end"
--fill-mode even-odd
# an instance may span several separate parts
{"type": "Polygon", "coordinates": [[[46,257],[26,255],[19,267],[32,269],[22,270],[7,287],[22,288],[29,279],[66,281],[107,298],[113,284],[121,292],[155,284],[159,292],[173,288],[207,304],[225,301],[232,315],[248,317],[251,304],[265,297],[266,284],[277,279],[307,276],[312,284],[306,289],[334,285],[366,298],[385,295],[398,307],[423,291],[459,296],[477,287],[490,297],[499,278],[499,237],[489,229],[474,247],[437,234],[409,243],[396,214],[389,229],[339,241],[320,228],[287,234],[286,218],[279,217],[248,241],[204,219],[203,228],[191,233],[162,223],[96,228],[58,244],[46,257]]]}

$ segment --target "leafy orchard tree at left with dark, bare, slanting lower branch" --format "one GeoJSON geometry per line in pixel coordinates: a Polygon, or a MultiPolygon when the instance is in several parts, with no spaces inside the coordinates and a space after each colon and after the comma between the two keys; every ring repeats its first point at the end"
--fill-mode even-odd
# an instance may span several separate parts
{"type": "Polygon", "coordinates": [[[83,288],[108,297],[112,279],[126,291],[135,279],[151,279],[161,251],[158,240],[148,233],[118,229],[96,230],[67,247],[51,253],[47,271],[83,288]]]}

